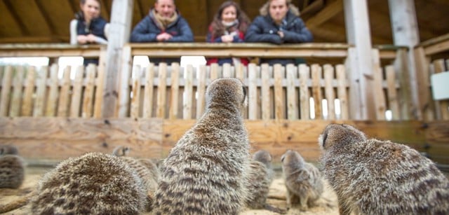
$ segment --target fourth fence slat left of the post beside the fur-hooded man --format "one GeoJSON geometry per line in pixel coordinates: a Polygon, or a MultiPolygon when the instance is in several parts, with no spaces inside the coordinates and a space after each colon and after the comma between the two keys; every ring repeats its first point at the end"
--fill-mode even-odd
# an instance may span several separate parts
{"type": "Polygon", "coordinates": [[[300,112],[302,120],[310,119],[310,106],[309,106],[309,86],[307,81],[310,77],[310,69],[306,64],[300,64],[300,112]]]}

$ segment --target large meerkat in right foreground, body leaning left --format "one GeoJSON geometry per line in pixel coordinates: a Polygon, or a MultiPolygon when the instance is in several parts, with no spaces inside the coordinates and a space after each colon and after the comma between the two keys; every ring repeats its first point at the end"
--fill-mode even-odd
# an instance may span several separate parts
{"type": "Polygon", "coordinates": [[[337,124],[326,126],[319,146],[340,214],[449,213],[448,179],[415,149],[337,124]]]}

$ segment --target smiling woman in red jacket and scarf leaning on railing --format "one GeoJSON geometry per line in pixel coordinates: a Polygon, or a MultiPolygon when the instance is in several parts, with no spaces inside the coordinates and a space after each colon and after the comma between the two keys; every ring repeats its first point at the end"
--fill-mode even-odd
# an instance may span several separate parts
{"type": "MultiPolygon", "coordinates": [[[[214,15],[212,23],[209,25],[209,32],[206,37],[208,43],[243,43],[246,29],[250,25],[250,19],[241,11],[239,4],[234,1],[225,1],[218,8],[214,15]]],[[[243,64],[248,65],[248,58],[228,57],[217,58],[208,57],[206,64],[217,63],[219,65],[229,64],[243,64]]]]}

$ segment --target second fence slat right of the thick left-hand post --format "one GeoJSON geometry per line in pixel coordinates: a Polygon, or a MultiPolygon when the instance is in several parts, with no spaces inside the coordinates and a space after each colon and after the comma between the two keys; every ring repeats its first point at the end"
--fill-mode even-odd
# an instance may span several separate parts
{"type": "MultiPolygon", "coordinates": [[[[173,71],[172,71],[173,75],[173,71]]],[[[173,78],[172,78],[173,87],[173,78]]],[[[153,88],[154,88],[154,63],[150,63],[145,71],[145,97],[143,102],[143,117],[151,118],[153,111],[153,88]]]]}

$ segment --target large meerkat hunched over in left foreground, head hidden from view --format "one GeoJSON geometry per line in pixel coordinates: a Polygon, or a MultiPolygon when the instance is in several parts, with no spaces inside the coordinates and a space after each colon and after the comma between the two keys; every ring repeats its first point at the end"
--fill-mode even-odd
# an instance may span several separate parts
{"type": "Polygon", "coordinates": [[[32,214],[140,214],[145,185],[122,159],[86,153],[46,173],[32,197],[32,214]]]}

